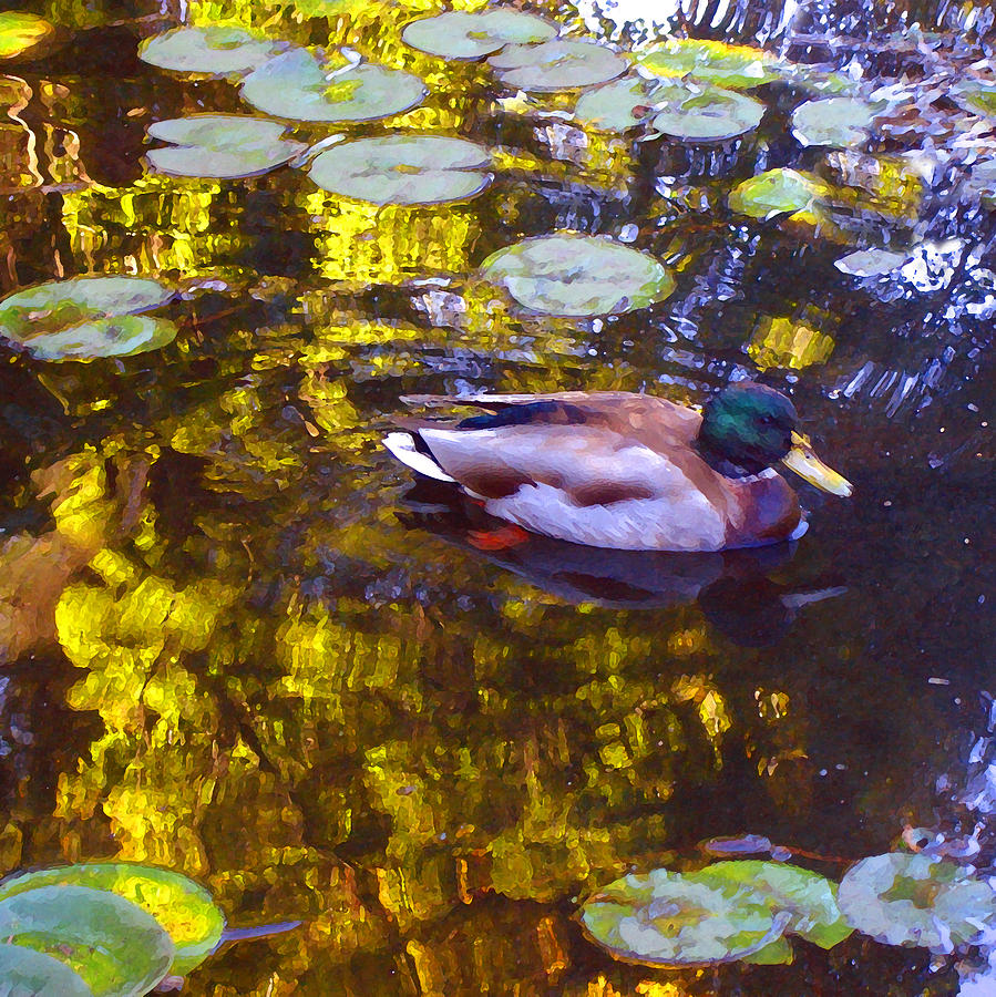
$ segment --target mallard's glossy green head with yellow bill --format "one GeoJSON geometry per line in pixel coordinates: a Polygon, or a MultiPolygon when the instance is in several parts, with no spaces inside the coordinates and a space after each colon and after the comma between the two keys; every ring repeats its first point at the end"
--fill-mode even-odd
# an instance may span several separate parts
{"type": "Polygon", "coordinates": [[[798,418],[792,402],[773,388],[731,384],[706,402],[699,452],[730,477],[759,474],[782,462],[823,491],[850,495],[850,483],[822,463],[795,432],[798,418]]]}

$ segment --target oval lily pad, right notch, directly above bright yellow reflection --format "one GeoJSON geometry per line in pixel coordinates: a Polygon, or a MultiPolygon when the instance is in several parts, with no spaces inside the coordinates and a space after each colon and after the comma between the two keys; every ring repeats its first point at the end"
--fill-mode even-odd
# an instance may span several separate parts
{"type": "Polygon", "coordinates": [[[441,204],[480,194],[491,155],[442,135],[390,135],[333,145],[308,175],[326,191],[372,204],[441,204]]]}

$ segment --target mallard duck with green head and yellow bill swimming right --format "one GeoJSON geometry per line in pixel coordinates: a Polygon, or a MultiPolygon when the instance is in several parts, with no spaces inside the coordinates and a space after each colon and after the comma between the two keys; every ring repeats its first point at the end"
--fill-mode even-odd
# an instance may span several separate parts
{"type": "Polygon", "coordinates": [[[761,384],[730,386],[701,412],[620,391],[403,401],[486,413],[398,420],[384,439],[398,460],[492,516],[576,544],[723,551],[794,539],[805,518],[777,463],[834,495],[852,491],[795,431],[792,402],[761,384]]]}

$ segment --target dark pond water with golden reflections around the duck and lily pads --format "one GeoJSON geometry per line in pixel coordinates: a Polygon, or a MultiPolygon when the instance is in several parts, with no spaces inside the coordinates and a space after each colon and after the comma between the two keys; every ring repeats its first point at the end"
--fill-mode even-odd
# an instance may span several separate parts
{"type": "MultiPolygon", "coordinates": [[[[839,878],[906,828],[975,831],[987,867],[996,275],[965,176],[992,124],[937,93],[858,150],[803,147],[788,119],[814,94],[776,82],[746,137],[635,141],[582,127],[577,91],[516,94],[407,47],[405,22],[435,12],[414,0],[23,9],[60,33],[0,62],[0,288],[148,276],[179,289],[160,312],[179,332],[89,363],[0,347],[3,870],[122,857],[198,878],[234,928],[301,922],[226,945],[192,995],[957,993],[954,957],[856,934],[791,966],[627,965],[575,915],[718,835],[767,835],[839,878]],[[417,74],[419,106],[294,137],[459,136],[491,151],[493,182],[378,206],[294,165],[150,172],[153,123],[250,110],[230,81],[137,58],[181,18],[417,74]],[[850,193],[815,222],[727,207],[785,166],[850,193]],[[556,318],[468,280],[562,229],[650,254],[675,290],[556,318]],[[901,257],[835,266],[864,248],[901,257]],[[380,445],[407,394],[691,402],[743,379],[791,393],[854,484],[800,485],[791,546],[507,544],[412,493],[380,445]]],[[[531,9],[624,49],[664,35],[531,9]]],[[[712,35],[736,22],[732,41],[859,83],[944,90],[944,66],[988,51],[985,8],[957,38],[892,48],[793,43],[788,9],[723,11],[712,35]]],[[[859,13],[841,23],[871,32],[859,13]]]]}

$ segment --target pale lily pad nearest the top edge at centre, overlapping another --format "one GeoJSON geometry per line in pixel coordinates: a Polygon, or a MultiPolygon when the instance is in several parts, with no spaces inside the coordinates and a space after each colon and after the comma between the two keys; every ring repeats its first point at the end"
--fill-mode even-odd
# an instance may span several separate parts
{"type": "Polygon", "coordinates": [[[507,8],[480,13],[451,10],[411,21],[401,32],[405,44],[443,59],[483,59],[509,44],[533,44],[556,37],[556,24],[507,8]]]}

